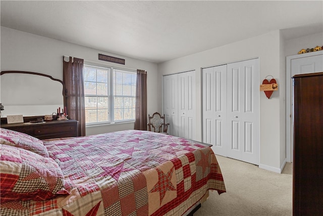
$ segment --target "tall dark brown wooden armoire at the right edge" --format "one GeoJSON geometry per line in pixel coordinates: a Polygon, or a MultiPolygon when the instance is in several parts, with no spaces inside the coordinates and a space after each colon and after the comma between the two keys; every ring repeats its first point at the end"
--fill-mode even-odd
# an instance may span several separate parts
{"type": "Polygon", "coordinates": [[[293,79],[293,215],[323,215],[323,72],[293,79]]]}

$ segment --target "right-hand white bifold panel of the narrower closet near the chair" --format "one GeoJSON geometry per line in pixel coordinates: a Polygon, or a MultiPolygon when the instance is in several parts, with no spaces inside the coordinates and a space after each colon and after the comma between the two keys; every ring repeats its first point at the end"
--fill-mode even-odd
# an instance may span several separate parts
{"type": "Polygon", "coordinates": [[[195,139],[195,70],[178,74],[178,136],[195,139]]]}

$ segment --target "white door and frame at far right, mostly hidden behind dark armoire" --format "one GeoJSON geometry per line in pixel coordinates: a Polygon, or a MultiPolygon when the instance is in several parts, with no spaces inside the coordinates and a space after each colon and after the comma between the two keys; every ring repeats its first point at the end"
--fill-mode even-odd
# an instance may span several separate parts
{"type": "MultiPolygon", "coordinates": [[[[323,71],[323,55],[316,55],[316,56],[308,56],[303,58],[296,58],[291,60],[291,77],[296,74],[304,74],[304,73],[317,73],[323,71]]],[[[291,80],[292,82],[292,80],[291,80]]],[[[294,92],[293,92],[293,84],[291,86],[291,132],[290,132],[290,140],[291,143],[293,141],[293,132],[294,132],[294,92]]],[[[288,94],[288,92],[287,92],[288,94]]],[[[290,145],[290,144],[289,144],[290,145]]],[[[291,146],[291,162],[293,162],[293,145],[291,146]]]]}

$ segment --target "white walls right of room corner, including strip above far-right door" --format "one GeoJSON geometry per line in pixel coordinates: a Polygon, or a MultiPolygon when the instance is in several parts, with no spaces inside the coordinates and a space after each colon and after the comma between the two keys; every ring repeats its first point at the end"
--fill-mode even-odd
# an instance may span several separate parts
{"type": "MultiPolygon", "coordinates": [[[[285,40],[277,30],[223,47],[158,64],[158,93],[162,91],[165,74],[196,70],[196,139],[202,141],[201,131],[201,68],[230,62],[259,58],[260,80],[272,75],[279,91],[268,100],[260,93],[260,164],[259,167],[281,172],[286,163],[286,56],[295,55],[303,48],[323,45],[323,33],[285,40]]],[[[161,107],[158,94],[158,108],[161,107]]]]}

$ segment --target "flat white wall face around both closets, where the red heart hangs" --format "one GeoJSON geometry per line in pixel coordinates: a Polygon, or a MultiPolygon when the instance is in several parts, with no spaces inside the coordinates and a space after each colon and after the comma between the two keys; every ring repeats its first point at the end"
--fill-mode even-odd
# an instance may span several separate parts
{"type": "MultiPolygon", "coordinates": [[[[260,80],[267,75],[276,78],[280,88],[285,88],[280,79],[280,32],[273,31],[246,40],[238,41],[223,47],[214,48],[190,56],[174,59],[158,64],[158,108],[161,112],[161,83],[163,75],[187,70],[196,70],[196,139],[201,141],[201,68],[213,65],[259,58],[260,80]]],[[[260,83],[259,80],[259,83],[260,83]]],[[[284,92],[283,92],[284,93],[284,92]]],[[[268,100],[260,94],[260,163],[259,166],[280,172],[281,142],[285,140],[281,134],[281,126],[285,121],[285,111],[280,107],[281,90],[273,93],[268,100]]]]}

